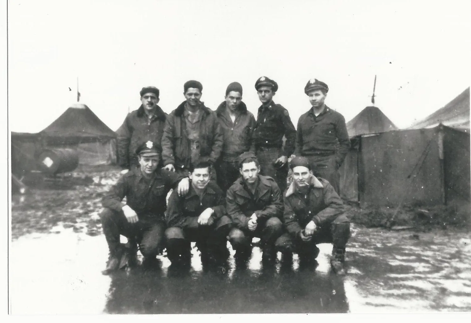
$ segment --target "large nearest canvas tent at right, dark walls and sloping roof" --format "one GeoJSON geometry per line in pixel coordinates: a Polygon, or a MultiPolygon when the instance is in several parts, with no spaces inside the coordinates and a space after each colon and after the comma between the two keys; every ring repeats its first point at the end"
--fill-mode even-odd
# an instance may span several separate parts
{"type": "MultiPolygon", "coordinates": [[[[353,137],[358,194],[347,197],[360,205],[446,203],[469,208],[469,93],[467,89],[413,129],[353,137]]],[[[343,168],[352,171],[354,165],[343,168]]],[[[343,187],[351,193],[351,187],[343,187]]]]}

